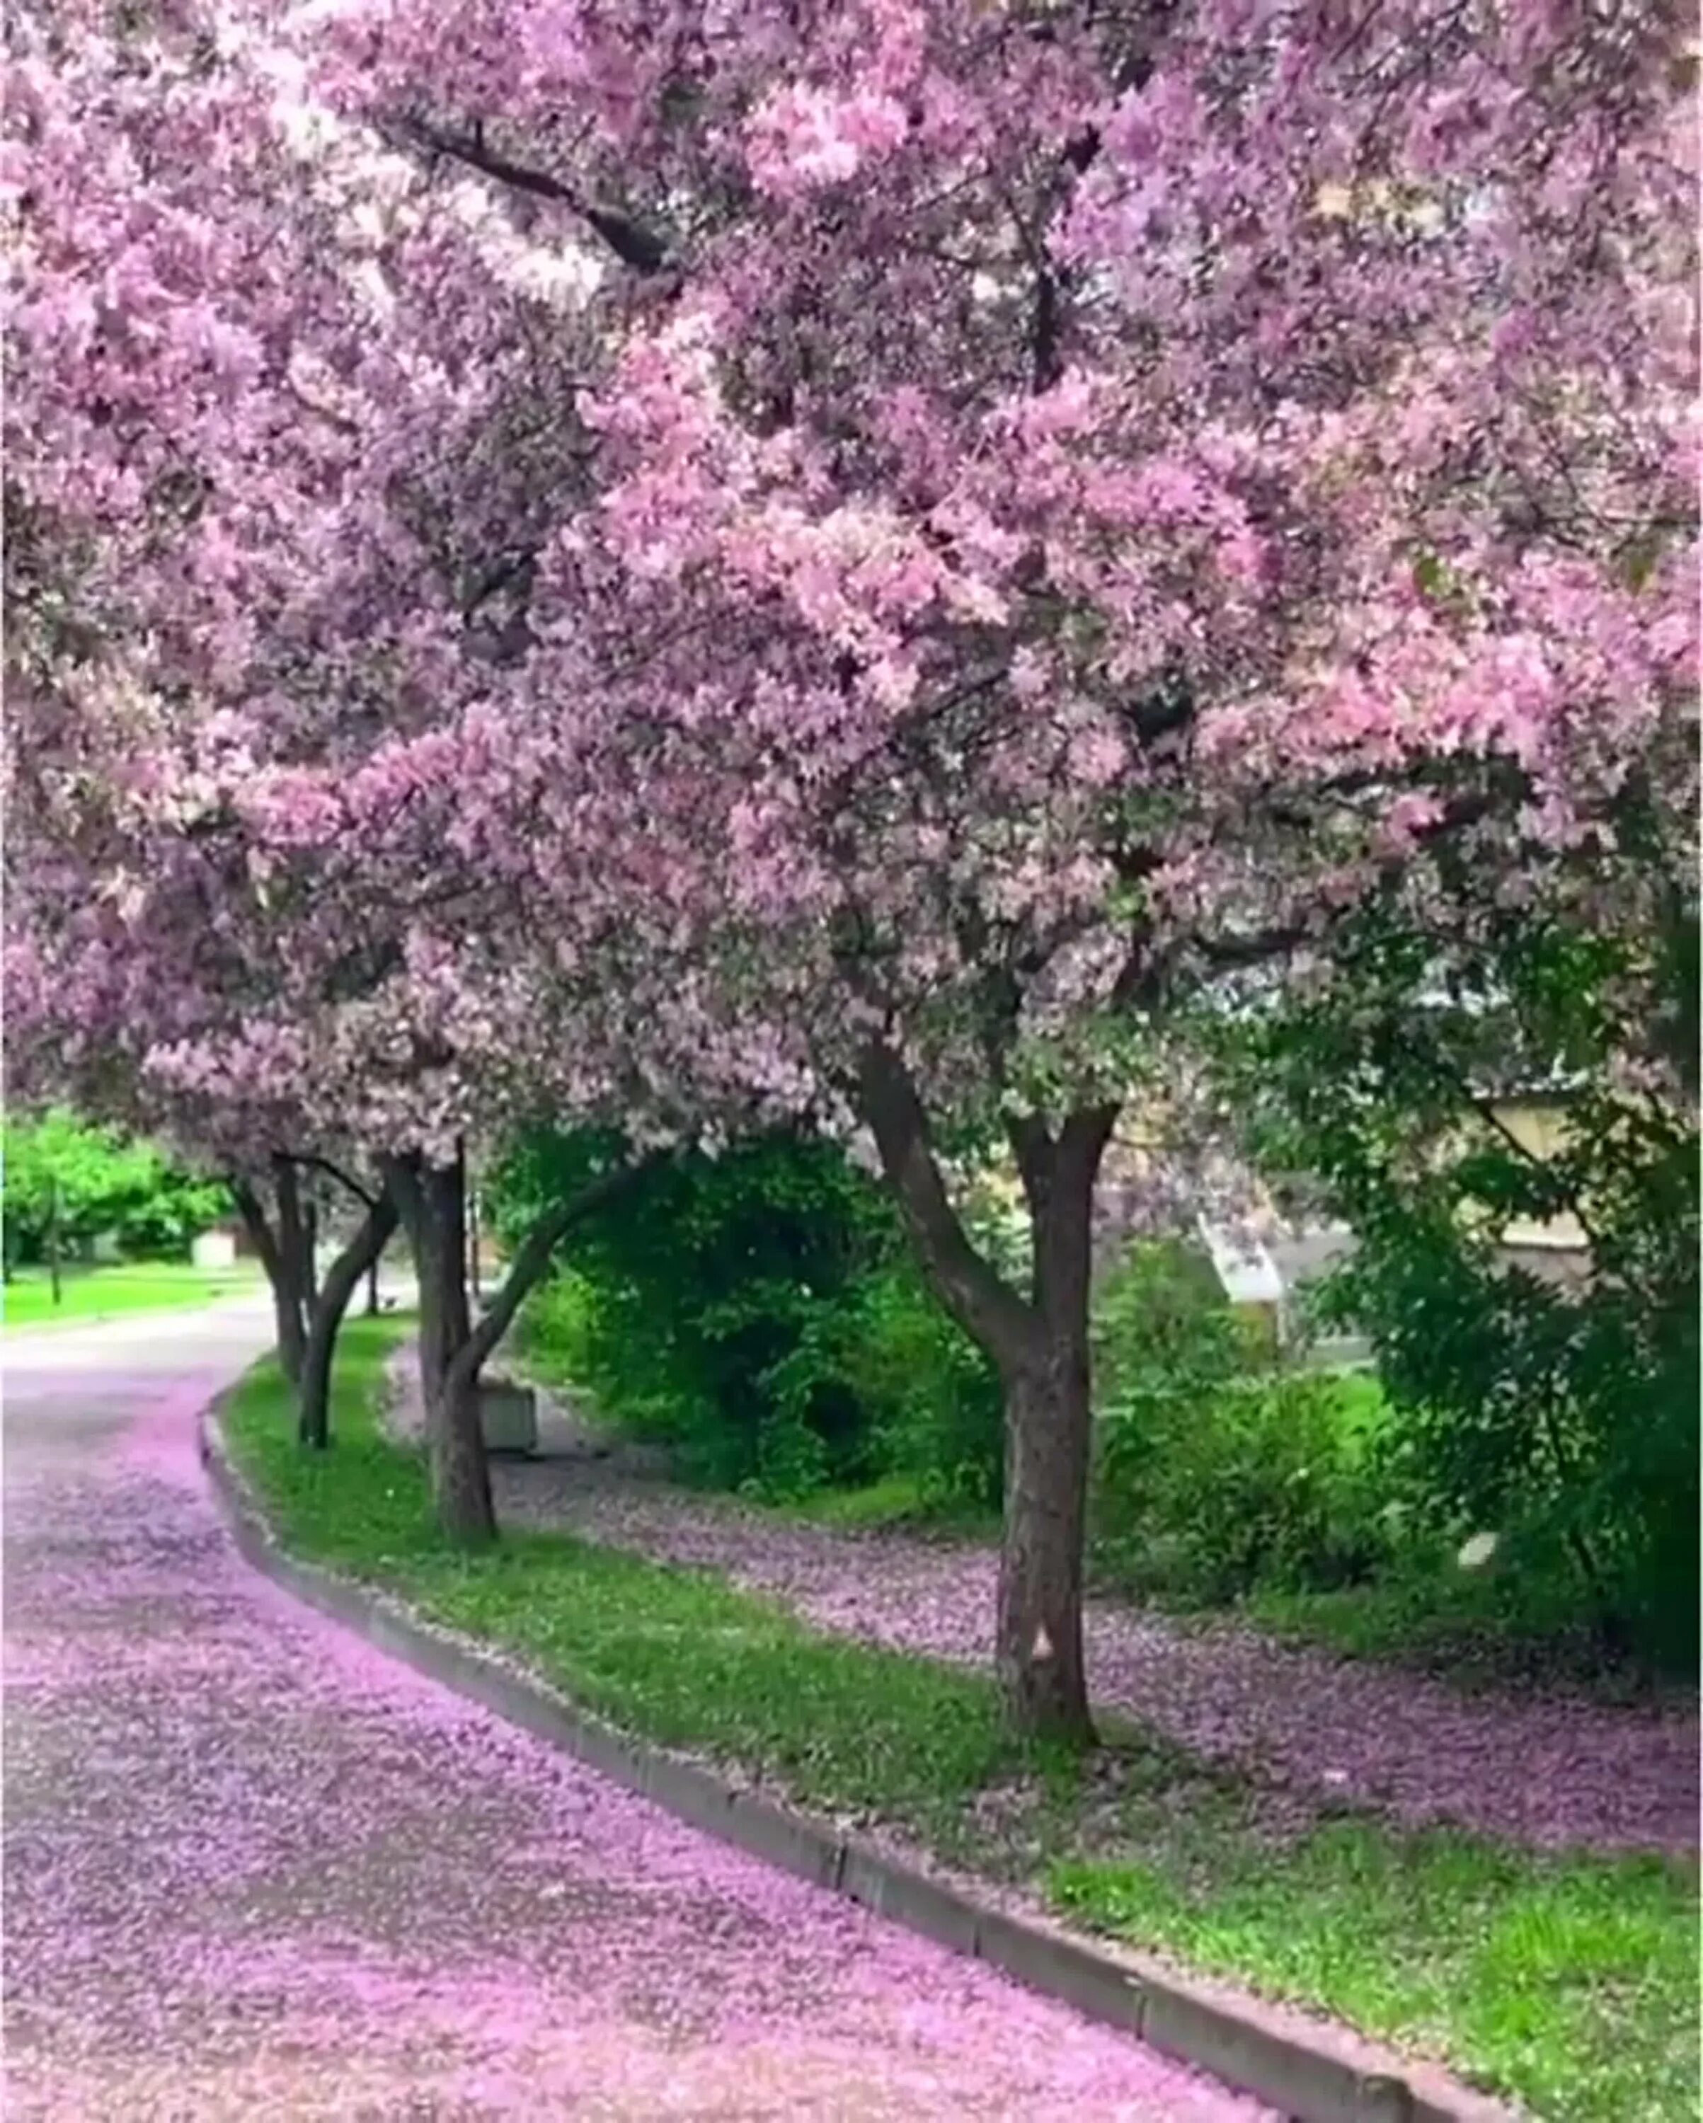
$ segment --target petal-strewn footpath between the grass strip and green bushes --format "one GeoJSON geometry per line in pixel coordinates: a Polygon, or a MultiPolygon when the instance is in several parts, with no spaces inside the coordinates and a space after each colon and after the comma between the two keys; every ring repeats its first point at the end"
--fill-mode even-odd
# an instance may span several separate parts
{"type": "MultiPolygon", "coordinates": [[[[393,1369],[391,1422],[418,1433],[410,1352],[393,1369]]],[[[675,1488],[654,1463],[605,1450],[552,1397],[541,1397],[539,1444],[539,1459],[493,1469],[505,1524],[567,1526],[720,1569],[820,1628],[992,1662],[992,1548],[841,1533],[675,1488]]],[[[1087,1660],[1096,1705],[1321,1805],[1351,1800],[1408,1826],[1450,1822],[1537,1847],[1697,1849],[1695,1705],[1467,1694],[1229,1624],[1179,1628],[1111,1601],[1089,1605],[1087,1660]]]]}

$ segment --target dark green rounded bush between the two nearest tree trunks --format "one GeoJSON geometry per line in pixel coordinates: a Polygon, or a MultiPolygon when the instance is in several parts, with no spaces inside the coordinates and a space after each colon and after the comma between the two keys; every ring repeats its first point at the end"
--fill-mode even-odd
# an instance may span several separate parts
{"type": "MultiPolygon", "coordinates": [[[[573,1138],[524,1144],[493,1187],[499,1223],[578,1157],[573,1138]]],[[[902,1475],[922,1509],[998,1501],[987,1363],[837,1144],[771,1134],[660,1161],[575,1233],[524,1333],[692,1480],[794,1501],[902,1475]]]]}

